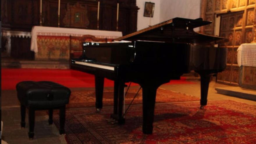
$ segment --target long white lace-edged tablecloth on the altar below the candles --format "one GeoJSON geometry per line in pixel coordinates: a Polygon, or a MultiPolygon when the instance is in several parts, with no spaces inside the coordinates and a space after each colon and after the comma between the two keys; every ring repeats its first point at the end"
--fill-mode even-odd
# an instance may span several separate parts
{"type": "Polygon", "coordinates": [[[47,27],[47,26],[33,26],[31,31],[31,46],[30,50],[35,53],[38,52],[37,36],[49,35],[49,36],[82,36],[93,35],[96,38],[118,38],[122,36],[120,31],[102,31],[91,29],[74,29],[74,28],[59,28],[59,27],[47,27]]]}

